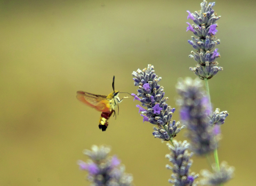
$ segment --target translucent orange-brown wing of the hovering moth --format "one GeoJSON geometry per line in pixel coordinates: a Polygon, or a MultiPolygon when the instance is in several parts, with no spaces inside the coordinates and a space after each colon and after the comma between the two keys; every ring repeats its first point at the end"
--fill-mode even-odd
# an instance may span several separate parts
{"type": "Polygon", "coordinates": [[[107,96],[91,94],[89,92],[77,91],[76,98],[86,105],[89,105],[99,112],[108,112],[110,108],[109,100],[107,96]]]}

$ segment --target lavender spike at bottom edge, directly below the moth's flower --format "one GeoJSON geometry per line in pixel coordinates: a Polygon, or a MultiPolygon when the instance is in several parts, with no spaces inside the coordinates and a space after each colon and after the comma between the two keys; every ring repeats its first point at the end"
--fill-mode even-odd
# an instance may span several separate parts
{"type": "Polygon", "coordinates": [[[196,186],[197,182],[195,179],[199,176],[195,173],[190,173],[189,169],[193,163],[190,159],[193,153],[188,153],[189,143],[185,140],[183,142],[173,140],[174,147],[169,143],[170,154],[166,154],[165,157],[173,164],[173,167],[166,165],[166,168],[172,170],[172,179],[169,179],[169,183],[174,184],[174,186],[196,186]]]}

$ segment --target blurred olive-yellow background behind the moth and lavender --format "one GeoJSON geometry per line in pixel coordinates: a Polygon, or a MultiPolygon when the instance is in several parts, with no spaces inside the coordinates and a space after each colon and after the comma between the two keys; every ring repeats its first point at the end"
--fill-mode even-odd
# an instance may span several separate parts
{"type": "MultiPolygon", "coordinates": [[[[110,145],[135,185],[170,185],[165,142],[152,136],[125,99],[117,120],[98,129],[100,113],[79,103],[76,91],[135,92],[131,73],[147,64],[162,77],[175,106],[179,77],[193,77],[187,10],[201,1],[0,1],[0,185],[89,185],[76,162],[83,149],[110,145]]],[[[216,1],[219,66],[210,80],[214,108],[228,111],[220,161],[236,167],[225,185],[255,184],[255,1],[216,1]]],[[[191,20],[189,20],[192,23],[191,20]]],[[[121,95],[122,97],[124,95],[121,95]]],[[[173,119],[179,120],[179,109],[173,119]]],[[[184,140],[183,133],[176,137],[184,140]]],[[[191,168],[209,168],[193,157],[191,168]]]]}

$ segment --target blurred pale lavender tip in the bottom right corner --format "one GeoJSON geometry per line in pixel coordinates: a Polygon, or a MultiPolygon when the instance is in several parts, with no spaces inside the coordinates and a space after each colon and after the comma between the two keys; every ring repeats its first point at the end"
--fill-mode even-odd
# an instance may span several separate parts
{"type": "Polygon", "coordinates": [[[216,166],[212,166],[214,173],[208,170],[202,170],[201,174],[203,179],[201,180],[202,185],[220,185],[229,181],[234,176],[234,167],[230,167],[226,162],[220,164],[220,171],[217,170],[216,166]]]}

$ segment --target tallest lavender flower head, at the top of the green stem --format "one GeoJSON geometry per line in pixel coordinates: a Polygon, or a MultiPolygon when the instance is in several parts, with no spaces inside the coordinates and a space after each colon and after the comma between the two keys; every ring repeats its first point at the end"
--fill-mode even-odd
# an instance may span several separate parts
{"type": "Polygon", "coordinates": [[[222,67],[218,67],[218,62],[215,60],[220,57],[217,50],[212,52],[216,45],[220,44],[220,40],[214,36],[217,33],[216,21],[220,19],[220,16],[216,16],[212,7],[215,3],[209,3],[206,1],[201,3],[201,11],[190,13],[188,12],[188,19],[194,21],[196,25],[190,25],[187,27],[187,31],[190,30],[194,33],[188,43],[196,50],[192,51],[190,58],[194,58],[197,62],[196,67],[190,67],[200,79],[211,79],[219,71],[223,70],[222,67]]]}

